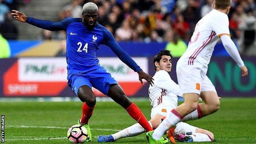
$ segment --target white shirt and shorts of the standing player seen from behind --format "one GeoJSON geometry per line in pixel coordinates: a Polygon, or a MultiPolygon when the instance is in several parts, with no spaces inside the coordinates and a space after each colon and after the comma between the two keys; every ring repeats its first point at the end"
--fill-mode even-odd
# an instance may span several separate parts
{"type": "Polygon", "coordinates": [[[176,73],[181,93],[215,91],[206,76],[214,46],[223,34],[229,35],[229,18],[213,9],[197,23],[187,50],[177,62],[176,73]]]}

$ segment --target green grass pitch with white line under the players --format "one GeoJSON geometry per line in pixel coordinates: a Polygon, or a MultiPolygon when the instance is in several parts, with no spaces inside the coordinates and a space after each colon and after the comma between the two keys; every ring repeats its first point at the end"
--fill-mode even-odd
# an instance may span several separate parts
{"type": "MultiPolygon", "coordinates": [[[[134,102],[149,119],[149,101],[134,102]]],[[[66,132],[76,124],[81,106],[81,102],[1,102],[0,114],[5,115],[5,143],[70,144],[66,132]]],[[[134,123],[126,110],[116,103],[97,102],[90,119],[91,144],[98,143],[99,135],[116,133],[134,123]]],[[[223,98],[219,111],[188,123],[213,132],[213,144],[256,144],[256,98],[223,98]]],[[[148,142],[142,134],[119,139],[114,144],[148,142]]]]}

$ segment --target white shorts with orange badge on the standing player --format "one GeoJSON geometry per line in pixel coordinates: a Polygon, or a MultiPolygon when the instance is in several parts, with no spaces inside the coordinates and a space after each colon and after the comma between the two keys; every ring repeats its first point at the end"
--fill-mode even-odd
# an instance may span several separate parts
{"type": "MultiPolygon", "coordinates": [[[[216,89],[206,72],[199,67],[187,64],[179,64],[176,68],[178,85],[181,94],[196,93],[201,94],[202,91],[215,91],[216,89]]],[[[217,92],[216,92],[217,93],[217,92]]]]}

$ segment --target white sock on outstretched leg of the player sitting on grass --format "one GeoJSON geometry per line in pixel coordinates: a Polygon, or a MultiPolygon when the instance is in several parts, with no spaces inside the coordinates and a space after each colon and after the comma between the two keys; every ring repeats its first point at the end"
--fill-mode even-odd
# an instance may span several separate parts
{"type": "MultiPolygon", "coordinates": [[[[149,121],[150,126],[152,127],[151,122],[149,121]]],[[[115,134],[112,134],[114,137],[114,140],[116,141],[117,139],[123,138],[123,137],[133,137],[136,135],[140,135],[145,132],[145,129],[142,128],[142,126],[139,125],[139,123],[135,123],[132,126],[129,126],[128,128],[125,128],[115,134]]]]}

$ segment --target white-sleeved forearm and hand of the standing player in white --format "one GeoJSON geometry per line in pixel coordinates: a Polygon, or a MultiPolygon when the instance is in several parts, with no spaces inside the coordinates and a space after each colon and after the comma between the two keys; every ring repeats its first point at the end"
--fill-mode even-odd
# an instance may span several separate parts
{"type": "Polygon", "coordinates": [[[235,43],[232,41],[232,39],[228,35],[222,35],[220,37],[224,48],[229,53],[229,55],[235,60],[235,62],[238,64],[242,71],[242,76],[248,75],[247,67],[245,66],[244,62],[242,61],[238,50],[235,46],[235,43]]]}

